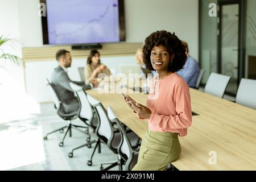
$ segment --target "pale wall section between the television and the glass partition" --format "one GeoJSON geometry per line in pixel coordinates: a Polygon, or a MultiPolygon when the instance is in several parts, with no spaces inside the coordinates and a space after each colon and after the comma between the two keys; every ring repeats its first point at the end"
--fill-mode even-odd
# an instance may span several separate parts
{"type": "Polygon", "coordinates": [[[156,30],[175,32],[198,60],[198,0],[125,0],[127,42],[144,42],[156,30]]]}

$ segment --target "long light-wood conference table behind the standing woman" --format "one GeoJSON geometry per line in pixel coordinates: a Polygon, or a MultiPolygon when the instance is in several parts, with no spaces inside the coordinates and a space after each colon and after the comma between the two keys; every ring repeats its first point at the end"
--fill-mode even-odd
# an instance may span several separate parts
{"type": "MultiPolygon", "coordinates": [[[[117,117],[139,137],[147,131],[120,94],[86,90],[111,106],[117,117]]],[[[182,152],[172,164],[179,170],[256,170],[256,110],[190,89],[192,117],[188,135],[179,137],[182,152]]],[[[146,105],[147,95],[129,94],[146,105]]]]}

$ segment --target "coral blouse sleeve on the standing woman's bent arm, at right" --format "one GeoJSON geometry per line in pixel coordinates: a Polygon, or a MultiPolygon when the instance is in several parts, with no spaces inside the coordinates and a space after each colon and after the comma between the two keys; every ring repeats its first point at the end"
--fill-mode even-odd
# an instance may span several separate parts
{"type": "Polygon", "coordinates": [[[192,112],[189,88],[185,84],[177,84],[174,88],[176,115],[151,113],[150,121],[162,129],[186,129],[191,126],[192,112]]]}

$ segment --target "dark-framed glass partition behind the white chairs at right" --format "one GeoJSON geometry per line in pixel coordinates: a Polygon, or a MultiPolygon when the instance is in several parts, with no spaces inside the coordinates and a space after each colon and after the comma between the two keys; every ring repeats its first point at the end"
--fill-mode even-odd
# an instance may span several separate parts
{"type": "Polygon", "coordinates": [[[256,1],[199,0],[199,63],[211,72],[231,77],[226,94],[236,96],[241,78],[256,79],[256,1]],[[213,6],[217,14],[211,16],[213,6]]]}

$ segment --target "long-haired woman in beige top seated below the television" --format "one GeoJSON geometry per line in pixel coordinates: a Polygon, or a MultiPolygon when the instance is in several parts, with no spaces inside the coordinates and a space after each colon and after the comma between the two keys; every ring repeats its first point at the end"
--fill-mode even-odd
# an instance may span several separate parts
{"type": "Polygon", "coordinates": [[[101,73],[110,76],[109,68],[101,64],[100,52],[92,50],[87,59],[87,66],[84,68],[85,80],[90,81],[93,78],[97,78],[101,73]]]}

